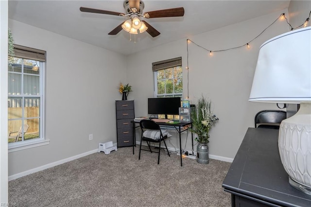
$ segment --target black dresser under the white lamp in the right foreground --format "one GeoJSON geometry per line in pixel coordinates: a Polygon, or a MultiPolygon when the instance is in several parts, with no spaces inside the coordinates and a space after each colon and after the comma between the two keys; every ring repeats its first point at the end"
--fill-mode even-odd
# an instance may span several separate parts
{"type": "Polygon", "coordinates": [[[232,207],[311,207],[311,195],[289,184],[277,139],[276,129],[248,128],[222,185],[232,207]]]}

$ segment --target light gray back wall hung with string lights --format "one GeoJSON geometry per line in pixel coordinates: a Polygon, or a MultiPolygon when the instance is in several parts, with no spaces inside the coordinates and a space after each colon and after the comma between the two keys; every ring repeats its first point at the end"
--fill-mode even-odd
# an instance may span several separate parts
{"type": "MultiPolygon", "coordinates": [[[[222,50],[246,44],[259,35],[282,13],[266,16],[223,27],[211,32],[189,37],[196,44],[209,50],[222,50]]],[[[189,97],[195,103],[203,94],[213,102],[218,123],[210,131],[209,153],[211,158],[230,161],[236,155],[248,127],[254,127],[254,116],[259,110],[277,109],[276,104],[248,102],[257,64],[259,47],[266,40],[288,32],[286,21],[276,21],[256,40],[246,46],[226,52],[215,52],[212,57],[202,48],[189,44],[189,97]]],[[[131,94],[136,100],[136,114],[147,115],[147,98],[154,96],[151,63],[174,57],[182,57],[184,97],[187,97],[187,39],[161,45],[127,57],[128,82],[133,84],[131,94]],[[139,65],[137,65],[137,60],[139,65]],[[139,80],[137,74],[140,74],[139,80]],[[141,87],[143,86],[143,87],[141,87]]],[[[184,134],[184,137],[187,135],[184,134]]],[[[139,134],[137,133],[137,137],[139,134]]],[[[189,137],[189,135],[188,135],[189,137]]],[[[172,143],[179,148],[177,140],[172,143]]],[[[185,146],[185,138],[182,147],[185,146]]],[[[169,144],[170,147],[173,147],[169,144]]],[[[188,139],[186,150],[191,149],[188,139]]]]}

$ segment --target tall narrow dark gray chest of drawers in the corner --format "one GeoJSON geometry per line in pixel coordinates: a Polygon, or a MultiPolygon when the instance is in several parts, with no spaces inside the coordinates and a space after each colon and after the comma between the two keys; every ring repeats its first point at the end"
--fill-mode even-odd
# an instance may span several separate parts
{"type": "Polygon", "coordinates": [[[134,146],[133,127],[134,100],[116,101],[118,147],[134,146]]]}

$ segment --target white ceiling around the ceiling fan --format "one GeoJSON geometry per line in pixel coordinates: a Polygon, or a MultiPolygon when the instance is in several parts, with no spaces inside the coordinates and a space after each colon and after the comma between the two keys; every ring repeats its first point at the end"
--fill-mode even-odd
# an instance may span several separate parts
{"type": "Polygon", "coordinates": [[[108,33],[125,17],[80,12],[80,6],[125,13],[123,0],[9,0],[9,18],[104,49],[131,54],[287,9],[290,0],[143,0],[143,12],[184,7],[184,17],[144,19],[161,35],[108,33]]]}

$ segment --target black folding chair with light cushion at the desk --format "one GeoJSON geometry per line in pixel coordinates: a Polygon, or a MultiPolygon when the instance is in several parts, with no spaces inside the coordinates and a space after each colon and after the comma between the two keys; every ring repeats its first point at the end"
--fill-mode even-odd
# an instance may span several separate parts
{"type": "Polygon", "coordinates": [[[157,158],[157,164],[159,164],[160,162],[160,150],[161,150],[161,141],[164,142],[165,144],[165,148],[167,150],[167,153],[170,155],[169,150],[167,149],[166,143],[165,143],[165,139],[168,138],[168,135],[165,134],[163,136],[163,133],[160,129],[160,126],[152,120],[141,120],[139,122],[140,128],[141,128],[141,137],[140,137],[140,146],[139,146],[139,157],[138,159],[140,159],[140,151],[144,150],[141,149],[141,142],[142,141],[146,141],[149,147],[149,150],[145,150],[145,151],[150,151],[151,153],[158,153],[158,158],[157,158]],[[159,151],[155,152],[151,150],[150,147],[150,142],[158,142],[159,143],[159,151]]]}

